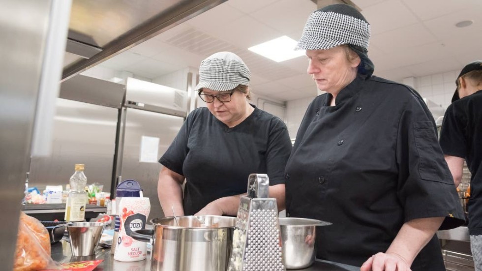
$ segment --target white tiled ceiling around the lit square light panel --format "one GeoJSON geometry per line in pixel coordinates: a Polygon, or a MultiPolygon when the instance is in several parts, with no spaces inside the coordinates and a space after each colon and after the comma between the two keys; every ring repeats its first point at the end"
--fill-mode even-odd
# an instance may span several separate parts
{"type": "MultiPolygon", "coordinates": [[[[401,81],[482,59],[481,0],[352,1],[371,24],[369,57],[377,76],[401,81]],[[474,23],[455,27],[464,20],[474,23]]],[[[305,57],[277,63],[247,50],[282,35],[300,38],[314,10],[311,0],[228,0],[100,65],[155,79],[232,51],[250,68],[255,93],[281,101],[315,96],[305,57]]]]}

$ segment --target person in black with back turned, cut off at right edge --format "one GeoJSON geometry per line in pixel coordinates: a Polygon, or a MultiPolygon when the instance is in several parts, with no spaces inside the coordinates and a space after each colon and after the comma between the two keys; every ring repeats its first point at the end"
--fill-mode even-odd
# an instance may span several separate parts
{"type": "Polygon", "coordinates": [[[440,146],[455,186],[462,180],[464,159],[472,174],[468,228],[475,269],[482,271],[482,61],[467,64],[455,83],[457,89],[440,131],[440,146]]]}

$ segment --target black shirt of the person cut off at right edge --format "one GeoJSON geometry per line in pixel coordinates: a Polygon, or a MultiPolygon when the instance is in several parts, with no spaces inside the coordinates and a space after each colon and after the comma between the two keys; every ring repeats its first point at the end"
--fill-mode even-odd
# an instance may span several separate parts
{"type": "Polygon", "coordinates": [[[469,233],[482,235],[482,90],[453,102],[445,112],[440,146],[465,158],[470,180],[469,233]]]}

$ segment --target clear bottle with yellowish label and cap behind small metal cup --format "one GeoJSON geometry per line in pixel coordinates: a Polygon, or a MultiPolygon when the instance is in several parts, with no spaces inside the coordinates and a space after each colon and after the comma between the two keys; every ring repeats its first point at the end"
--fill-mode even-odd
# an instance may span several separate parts
{"type": "Polygon", "coordinates": [[[87,177],[84,174],[84,164],[75,165],[75,173],[70,177],[70,192],[65,204],[65,221],[84,221],[86,215],[87,192],[85,186],[87,177]]]}

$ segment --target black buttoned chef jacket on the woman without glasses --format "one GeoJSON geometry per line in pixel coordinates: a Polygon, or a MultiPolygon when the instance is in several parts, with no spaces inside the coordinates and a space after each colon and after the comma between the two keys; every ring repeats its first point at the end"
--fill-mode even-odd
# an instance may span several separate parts
{"type": "MultiPolygon", "coordinates": [[[[332,222],[317,228],[317,257],[361,266],[385,252],[404,222],[464,222],[435,122],[414,90],[382,78],[356,78],[336,96],[316,97],[285,170],[291,217],[332,222]]],[[[434,237],[413,271],[445,270],[434,237]]]]}

